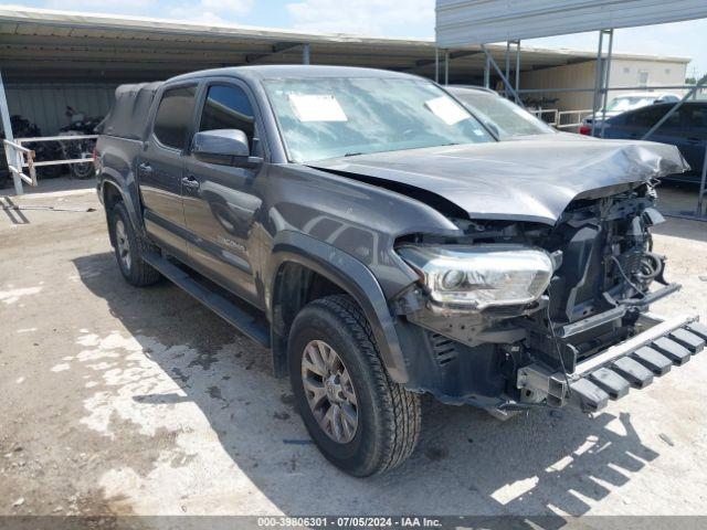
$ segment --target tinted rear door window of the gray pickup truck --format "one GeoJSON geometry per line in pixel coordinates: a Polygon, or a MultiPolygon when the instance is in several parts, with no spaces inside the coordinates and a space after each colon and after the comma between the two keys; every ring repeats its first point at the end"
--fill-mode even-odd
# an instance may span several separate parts
{"type": "Polygon", "coordinates": [[[175,149],[183,149],[194,110],[197,86],[169,88],[159,103],[152,134],[160,144],[175,149]]]}

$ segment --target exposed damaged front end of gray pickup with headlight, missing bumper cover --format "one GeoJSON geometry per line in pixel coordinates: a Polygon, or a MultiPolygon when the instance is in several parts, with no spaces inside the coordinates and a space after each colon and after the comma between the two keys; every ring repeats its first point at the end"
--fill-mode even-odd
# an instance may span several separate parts
{"type": "Polygon", "coordinates": [[[499,414],[568,402],[595,411],[700,351],[707,328],[648,306],[676,292],[652,250],[651,183],[577,197],[555,225],[462,220],[397,253],[419,283],[395,301],[410,390],[499,414]],[[657,286],[657,288],[655,287],[657,286]]]}

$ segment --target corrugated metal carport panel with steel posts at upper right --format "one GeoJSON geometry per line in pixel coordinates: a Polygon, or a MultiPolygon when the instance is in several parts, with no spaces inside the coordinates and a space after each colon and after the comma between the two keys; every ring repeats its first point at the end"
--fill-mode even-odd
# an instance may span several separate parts
{"type": "MultiPolygon", "coordinates": [[[[520,78],[520,41],[541,36],[555,36],[580,33],[585,31],[599,32],[599,49],[595,61],[594,94],[592,112],[594,117],[602,112],[606,114],[606,99],[610,89],[637,89],[640,87],[611,87],[610,64],[613,56],[614,29],[634,28],[642,25],[662,24],[707,18],[707,2],[705,0],[524,0],[509,2],[507,0],[436,0],[435,7],[435,38],[436,44],[449,56],[456,46],[479,45],[486,56],[486,85],[493,67],[505,85],[507,94],[521,104],[519,98],[520,78]],[[608,50],[604,52],[604,39],[608,50]],[[506,41],[506,73],[504,75],[496,59],[490,53],[488,44],[506,41]],[[510,43],[516,45],[515,86],[509,80],[510,43]],[[603,99],[603,102],[601,100],[603,99]]],[[[439,53],[439,52],[437,52],[439,53]]],[[[645,134],[643,139],[650,139],[657,130],[699,87],[707,84],[707,75],[694,86],[682,86],[688,89],[680,102],[645,134]]],[[[562,89],[562,88],[558,88],[562,89]]],[[[571,91],[576,91],[572,88],[571,91]]],[[[540,92],[553,92],[544,88],[540,92]]],[[[597,119],[592,120],[592,135],[597,119]]],[[[601,136],[603,137],[603,120],[601,136]]],[[[703,216],[703,200],[707,194],[707,145],[705,161],[697,199],[695,218],[703,216]]],[[[688,215],[689,216],[689,215],[688,215]]]]}

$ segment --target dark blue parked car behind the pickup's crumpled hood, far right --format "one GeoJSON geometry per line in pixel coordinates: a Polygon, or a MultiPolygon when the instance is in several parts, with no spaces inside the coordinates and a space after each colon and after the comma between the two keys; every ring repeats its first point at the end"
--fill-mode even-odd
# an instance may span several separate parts
{"type": "MultiPolygon", "coordinates": [[[[641,139],[673,106],[651,105],[608,119],[604,138],[641,139]]],[[[699,182],[707,149],[707,102],[684,103],[648,139],[676,146],[692,168],[666,180],[699,182]]]]}

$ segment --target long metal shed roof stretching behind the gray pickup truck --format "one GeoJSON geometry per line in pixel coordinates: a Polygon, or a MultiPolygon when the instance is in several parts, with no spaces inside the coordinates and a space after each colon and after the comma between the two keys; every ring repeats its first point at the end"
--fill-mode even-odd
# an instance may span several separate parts
{"type": "MultiPolygon", "coordinates": [[[[507,3],[507,2],[504,2],[507,3]]],[[[525,3],[525,2],[513,2],[525,3]]],[[[0,68],[7,83],[136,83],[202,68],[302,63],[369,66],[434,77],[432,39],[387,39],[304,33],[137,17],[0,8],[0,68]]],[[[505,46],[490,46],[502,60],[505,46]]],[[[592,52],[524,47],[523,70],[594,60],[592,52]]],[[[621,56],[621,55],[615,55],[621,56]]],[[[450,81],[482,75],[479,46],[451,52],[450,81]]],[[[687,59],[637,57],[687,62],[687,59]]]]}

